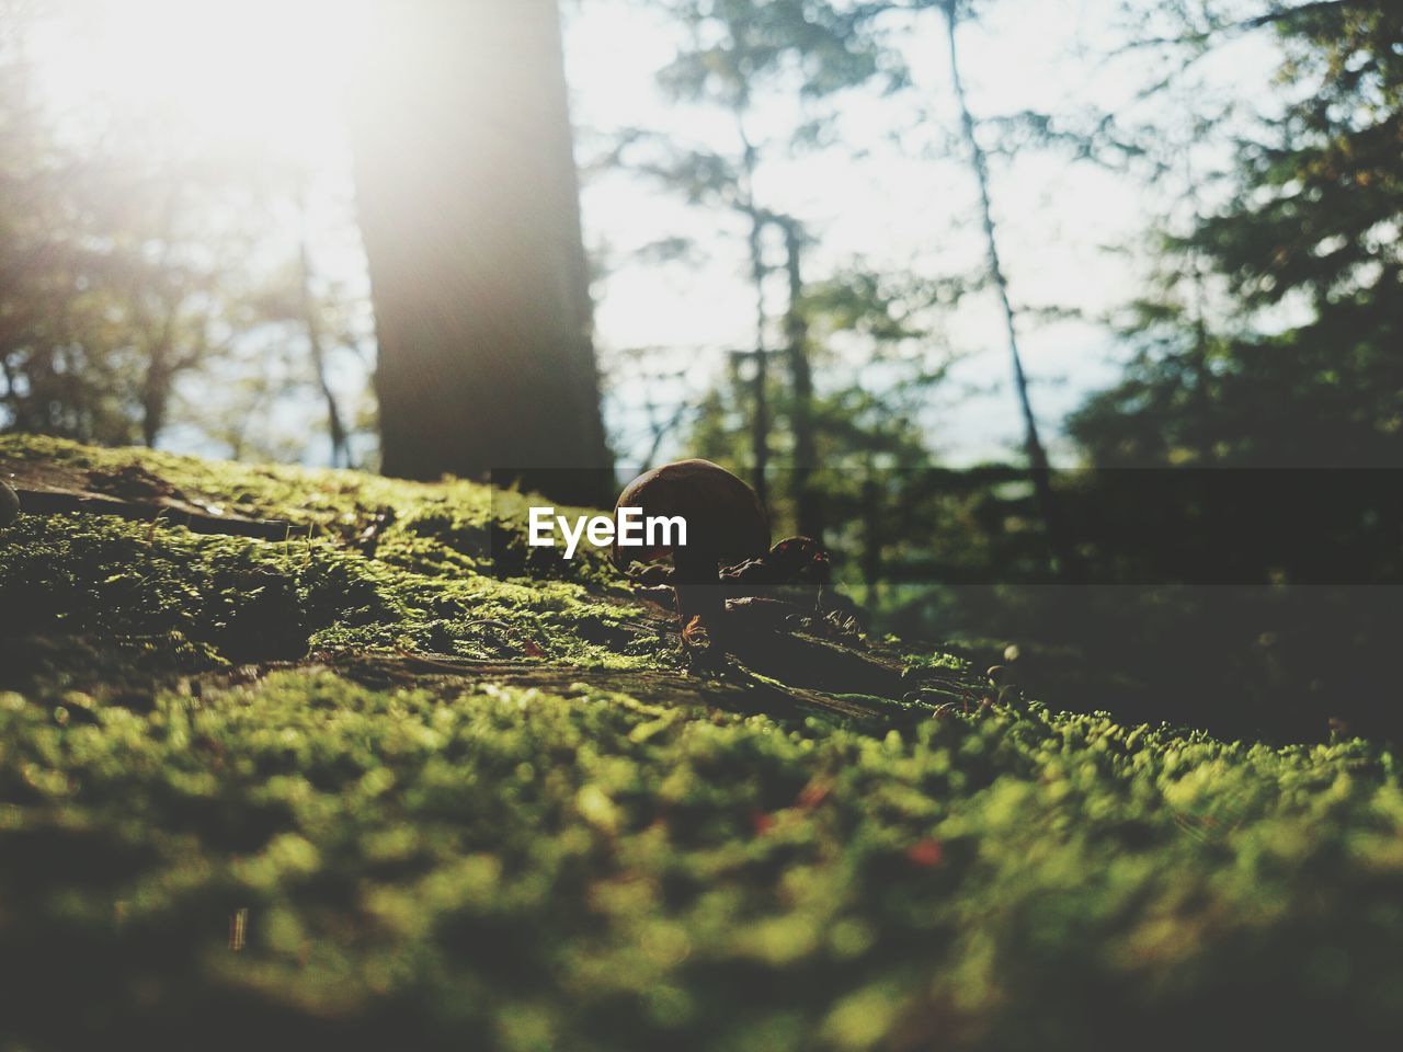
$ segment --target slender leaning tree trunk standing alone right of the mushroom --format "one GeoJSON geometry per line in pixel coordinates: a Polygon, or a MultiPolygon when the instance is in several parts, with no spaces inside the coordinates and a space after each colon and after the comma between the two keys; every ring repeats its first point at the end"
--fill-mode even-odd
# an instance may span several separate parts
{"type": "Polygon", "coordinates": [[[1033,415],[1033,401],[1028,397],[1028,377],[1023,370],[1023,355],[1019,352],[1017,318],[1013,304],[1009,300],[1009,279],[999,258],[999,238],[993,226],[993,205],[989,199],[989,161],[979,139],[975,135],[975,119],[969,111],[969,100],[965,95],[964,80],[960,77],[960,50],[955,45],[955,27],[960,21],[957,0],[944,0],[941,13],[946,18],[946,38],[950,45],[950,80],[954,87],[955,104],[960,107],[960,126],[964,132],[965,149],[969,153],[969,167],[974,171],[975,182],[979,187],[979,215],[984,227],[985,250],[989,267],[989,281],[999,297],[999,307],[1003,313],[1003,324],[1009,337],[1009,358],[1013,365],[1013,390],[1019,400],[1019,410],[1023,414],[1023,447],[1028,457],[1028,468],[1033,480],[1034,498],[1038,513],[1042,518],[1048,541],[1056,557],[1061,572],[1069,574],[1073,567],[1072,547],[1066,540],[1061,515],[1056,506],[1056,495],[1052,492],[1052,473],[1048,466],[1047,449],[1038,436],[1037,418],[1033,415]]]}

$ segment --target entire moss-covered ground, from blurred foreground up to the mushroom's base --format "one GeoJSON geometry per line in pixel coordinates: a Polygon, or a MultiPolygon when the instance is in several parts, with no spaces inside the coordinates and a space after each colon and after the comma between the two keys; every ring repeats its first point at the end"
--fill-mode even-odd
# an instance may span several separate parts
{"type": "Polygon", "coordinates": [[[0,529],[0,1049],[1403,1032],[1382,746],[812,624],[696,675],[462,481],[20,438],[0,478],[42,509],[0,529]]]}

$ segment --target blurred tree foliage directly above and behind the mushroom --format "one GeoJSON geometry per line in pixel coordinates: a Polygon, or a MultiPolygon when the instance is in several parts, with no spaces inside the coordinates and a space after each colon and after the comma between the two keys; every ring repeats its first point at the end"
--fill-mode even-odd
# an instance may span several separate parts
{"type": "MultiPolygon", "coordinates": [[[[818,478],[824,464],[833,464],[832,450],[821,449],[825,432],[836,426],[843,438],[840,456],[857,453],[838,470],[852,470],[861,454],[871,454],[882,438],[847,439],[871,426],[861,415],[881,418],[881,429],[897,435],[908,452],[920,447],[909,404],[923,384],[939,379],[943,353],[932,355],[929,309],[936,299],[919,279],[885,276],[860,265],[847,267],[824,281],[808,275],[815,241],[805,220],[788,212],[783,201],[758,196],[758,178],[770,161],[822,149],[836,118],[833,100],[842,93],[880,84],[895,90],[905,81],[899,55],[887,48],[868,22],[870,11],[811,0],[664,0],[659,4],[685,43],[672,62],[658,70],[662,91],[686,105],[700,105],[734,123],[734,142],[704,143],[678,139],[675,129],[629,129],[617,136],[605,167],[617,167],[658,181],[686,203],[734,213],[746,236],[746,278],[759,303],[756,351],[730,352],[730,372],[714,379],[714,390],[696,398],[689,452],[751,471],[766,505],[779,512],[786,529],[824,532],[824,505],[829,492],[846,488],[842,478],[818,478]],[[756,137],[766,105],[794,104],[787,125],[756,137]],[[753,126],[752,126],[753,125],[753,126]],[[767,241],[783,241],[784,262],[770,258],[767,241]],[[790,300],[783,317],[765,306],[765,285],[784,272],[790,300]],[[783,338],[780,338],[780,331],[783,338]],[[881,396],[846,376],[833,377],[835,335],[850,337],[847,369],[866,367],[881,396]],[[781,344],[781,345],[780,345],[781,344]],[[861,362],[861,366],[854,363],[861,362]],[[939,360],[937,360],[939,359],[939,360]],[[780,379],[781,373],[787,373],[780,379]],[[815,389],[840,390],[815,397],[815,389]],[[902,389],[908,397],[902,397],[902,389]],[[845,404],[849,403],[849,404],[845,404]],[[860,403],[854,410],[850,403],[860,403]],[[783,481],[772,480],[779,464],[788,468],[783,481]],[[772,481],[776,484],[772,487],[772,481]]],[[[683,258],[690,243],[664,238],[650,252],[683,258]]],[[[686,417],[679,412],[672,425],[686,417]]],[[[657,435],[661,440],[661,433],[657,435]]],[[[654,446],[657,449],[657,443],[654,446]]],[[[846,511],[846,509],[845,509],[846,511]]]]}

